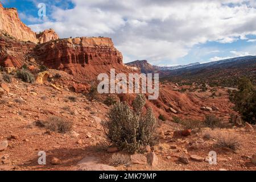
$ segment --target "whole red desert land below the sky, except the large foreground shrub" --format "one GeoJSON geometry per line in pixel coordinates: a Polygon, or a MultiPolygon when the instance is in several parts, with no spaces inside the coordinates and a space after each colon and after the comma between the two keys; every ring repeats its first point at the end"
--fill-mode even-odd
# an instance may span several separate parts
{"type": "Polygon", "coordinates": [[[0,3],[0,66],[1,171],[256,170],[256,56],[179,67],[124,64],[111,38],[37,34],[0,3]],[[97,76],[110,69],[159,73],[159,98],[98,94],[97,76]],[[130,143],[117,146],[106,127],[113,107],[121,118],[121,111],[138,111],[139,99],[141,115],[152,108],[155,141],[127,151],[130,143]]]}

